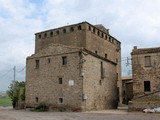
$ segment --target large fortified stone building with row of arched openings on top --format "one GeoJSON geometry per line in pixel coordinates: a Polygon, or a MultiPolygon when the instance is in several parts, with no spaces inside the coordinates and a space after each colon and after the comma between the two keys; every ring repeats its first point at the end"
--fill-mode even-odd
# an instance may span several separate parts
{"type": "Polygon", "coordinates": [[[121,50],[107,29],[83,22],[35,35],[26,63],[27,107],[116,108],[121,50]]]}

